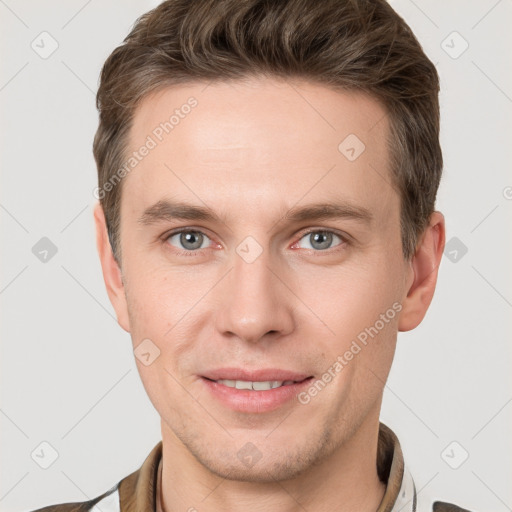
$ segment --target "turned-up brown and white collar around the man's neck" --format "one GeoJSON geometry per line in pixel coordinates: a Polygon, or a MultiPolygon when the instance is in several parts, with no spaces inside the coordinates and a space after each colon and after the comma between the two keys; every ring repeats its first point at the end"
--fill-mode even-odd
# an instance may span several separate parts
{"type": "MultiPolygon", "coordinates": [[[[122,512],[160,512],[162,441],[148,455],[142,466],[119,483],[122,512]]],[[[402,448],[395,433],[379,422],[377,473],[386,483],[386,491],[377,512],[416,512],[416,487],[405,466],[402,448]]]]}

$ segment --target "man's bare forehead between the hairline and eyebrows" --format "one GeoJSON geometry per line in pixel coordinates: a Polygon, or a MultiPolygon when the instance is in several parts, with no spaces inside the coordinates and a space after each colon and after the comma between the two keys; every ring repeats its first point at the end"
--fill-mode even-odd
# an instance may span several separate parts
{"type": "Polygon", "coordinates": [[[169,86],[135,112],[130,153],[151,149],[126,176],[123,196],[133,210],[175,194],[239,207],[241,194],[270,202],[288,193],[291,204],[336,191],[370,203],[372,187],[392,193],[383,190],[388,129],[385,109],[367,94],[311,82],[169,86]]]}

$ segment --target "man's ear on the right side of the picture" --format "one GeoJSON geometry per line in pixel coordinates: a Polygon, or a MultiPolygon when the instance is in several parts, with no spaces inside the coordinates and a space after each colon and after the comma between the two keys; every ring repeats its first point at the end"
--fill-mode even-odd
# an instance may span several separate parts
{"type": "Polygon", "coordinates": [[[425,317],[434,296],[444,244],[444,216],[440,212],[434,212],[410,261],[408,292],[402,302],[399,331],[414,329],[425,317]]]}

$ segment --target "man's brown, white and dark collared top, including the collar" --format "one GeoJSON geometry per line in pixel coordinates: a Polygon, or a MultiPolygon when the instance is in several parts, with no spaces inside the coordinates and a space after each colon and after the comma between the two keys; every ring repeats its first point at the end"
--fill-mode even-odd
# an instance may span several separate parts
{"type": "MultiPolygon", "coordinates": [[[[51,505],[33,512],[160,512],[162,441],[148,455],[142,466],[114,487],[94,499],[76,503],[51,505]],[[98,504],[98,508],[93,507],[98,504]]],[[[384,497],[376,512],[470,512],[452,503],[434,501],[417,508],[416,486],[404,464],[400,443],[395,433],[380,423],[377,472],[386,484],[384,497]]],[[[191,507],[191,510],[194,510],[191,507]]],[[[171,512],[171,511],[167,511],[171,512]]]]}

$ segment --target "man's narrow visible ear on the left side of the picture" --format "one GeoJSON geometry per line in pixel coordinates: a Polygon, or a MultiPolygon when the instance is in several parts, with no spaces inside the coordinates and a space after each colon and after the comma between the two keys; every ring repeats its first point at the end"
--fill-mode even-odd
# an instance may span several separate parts
{"type": "Polygon", "coordinates": [[[108,297],[116,311],[117,322],[125,331],[130,332],[122,272],[112,253],[105,215],[99,202],[94,206],[94,223],[96,225],[96,247],[100,256],[103,280],[105,281],[108,297]]]}

